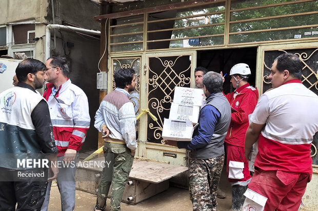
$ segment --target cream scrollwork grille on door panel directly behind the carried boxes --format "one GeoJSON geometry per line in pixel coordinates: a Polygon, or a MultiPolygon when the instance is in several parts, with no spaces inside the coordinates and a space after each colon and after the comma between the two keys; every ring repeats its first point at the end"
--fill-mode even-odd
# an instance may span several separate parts
{"type": "Polygon", "coordinates": [[[169,118],[175,86],[190,85],[191,56],[149,57],[148,108],[157,117],[148,118],[148,142],[162,142],[164,118],[169,118]]]}

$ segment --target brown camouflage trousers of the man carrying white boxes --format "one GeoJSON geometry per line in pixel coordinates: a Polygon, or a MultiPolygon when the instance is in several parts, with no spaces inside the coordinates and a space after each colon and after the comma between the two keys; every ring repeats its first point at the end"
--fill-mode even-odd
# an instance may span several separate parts
{"type": "Polygon", "coordinates": [[[190,158],[189,192],[193,210],[216,211],[216,192],[224,155],[209,159],[190,158]]]}

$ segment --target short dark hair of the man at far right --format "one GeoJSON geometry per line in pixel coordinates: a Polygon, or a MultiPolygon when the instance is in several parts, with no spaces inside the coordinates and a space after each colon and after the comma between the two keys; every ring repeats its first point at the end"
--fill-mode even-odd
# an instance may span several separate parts
{"type": "Polygon", "coordinates": [[[289,71],[289,75],[301,80],[303,64],[297,55],[291,53],[284,53],[278,56],[274,61],[276,60],[276,68],[279,72],[283,73],[285,69],[287,69],[287,71],[289,71]]]}

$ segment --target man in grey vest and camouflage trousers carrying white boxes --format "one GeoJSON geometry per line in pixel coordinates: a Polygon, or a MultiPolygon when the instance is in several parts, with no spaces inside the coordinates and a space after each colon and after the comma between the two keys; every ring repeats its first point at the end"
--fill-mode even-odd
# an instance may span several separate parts
{"type": "Polygon", "coordinates": [[[224,164],[224,138],[231,108],[222,93],[223,78],[215,72],[203,77],[206,104],[190,142],[166,140],[168,145],[190,150],[189,192],[193,210],[216,210],[216,192],[224,164]]]}

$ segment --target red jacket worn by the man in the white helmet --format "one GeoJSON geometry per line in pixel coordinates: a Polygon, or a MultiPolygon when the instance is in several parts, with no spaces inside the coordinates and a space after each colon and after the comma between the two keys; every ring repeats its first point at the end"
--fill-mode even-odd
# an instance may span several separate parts
{"type": "Polygon", "coordinates": [[[228,93],[225,97],[228,99],[232,109],[231,123],[225,142],[244,147],[245,133],[249,126],[248,115],[254,111],[257,100],[259,100],[259,91],[247,83],[228,93]]]}

